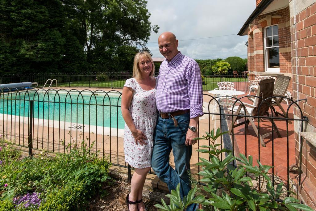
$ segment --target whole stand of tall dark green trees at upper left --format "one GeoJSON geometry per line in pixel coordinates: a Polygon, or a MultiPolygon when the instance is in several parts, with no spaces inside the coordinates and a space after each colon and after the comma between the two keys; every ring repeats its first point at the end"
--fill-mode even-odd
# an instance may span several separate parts
{"type": "Polygon", "coordinates": [[[0,0],[0,73],[131,71],[145,0],[0,0]]]}

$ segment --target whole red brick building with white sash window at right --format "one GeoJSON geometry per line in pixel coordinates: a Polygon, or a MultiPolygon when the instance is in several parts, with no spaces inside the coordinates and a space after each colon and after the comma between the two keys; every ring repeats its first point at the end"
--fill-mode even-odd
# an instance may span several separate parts
{"type": "MultiPolygon", "coordinates": [[[[248,71],[291,77],[289,89],[308,123],[295,123],[296,161],[302,137],[302,184],[293,179],[298,197],[316,210],[316,0],[256,0],[256,9],[238,35],[248,36],[248,71]]],[[[301,118],[294,108],[294,117],[301,118]]]]}

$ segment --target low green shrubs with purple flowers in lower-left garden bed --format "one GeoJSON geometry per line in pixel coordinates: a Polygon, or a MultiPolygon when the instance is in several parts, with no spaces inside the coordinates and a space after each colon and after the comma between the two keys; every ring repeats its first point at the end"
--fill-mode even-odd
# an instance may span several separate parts
{"type": "Polygon", "coordinates": [[[7,206],[8,210],[10,203],[15,205],[21,201],[30,208],[40,203],[40,210],[84,209],[91,197],[105,193],[102,186],[109,178],[111,166],[107,158],[98,158],[99,152],[92,153],[93,145],[87,147],[82,140],[80,146],[74,145],[71,149],[70,144],[65,146],[65,154],[50,157],[40,152],[33,158],[23,158],[20,152],[3,145],[0,208],[7,206]]]}

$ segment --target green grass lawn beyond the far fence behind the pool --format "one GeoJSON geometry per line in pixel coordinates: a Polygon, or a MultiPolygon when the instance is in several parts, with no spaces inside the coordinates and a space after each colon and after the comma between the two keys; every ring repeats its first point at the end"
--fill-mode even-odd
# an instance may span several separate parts
{"type": "MultiPolygon", "coordinates": [[[[126,80],[113,80],[113,81],[76,81],[70,82],[70,87],[91,87],[91,88],[113,88],[113,89],[122,89],[126,80]]],[[[203,85],[203,90],[213,90],[217,88],[217,83],[222,81],[229,82],[243,82],[245,78],[204,78],[205,84],[203,85]]],[[[69,87],[69,83],[60,83],[60,87],[69,87]]]]}

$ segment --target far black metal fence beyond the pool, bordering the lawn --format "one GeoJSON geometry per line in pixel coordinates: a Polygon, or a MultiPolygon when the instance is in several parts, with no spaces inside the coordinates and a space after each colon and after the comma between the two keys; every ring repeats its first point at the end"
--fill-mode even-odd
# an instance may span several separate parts
{"type": "MultiPolygon", "coordinates": [[[[158,73],[155,73],[155,75],[158,75],[158,73]]],[[[125,80],[131,78],[131,76],[131,72],[17,74],[1,76],[0,84],[33,82],[37,83],[38,87],[43,87],[48,79],[56,79],[58,87],[122,89],[125,84],[125,80]]],[[[233,82],[236,90],[248,90],[247,75],[240,75],[237,77],[232,72],[228,72],[225,75],[204,76],[203,90],[213,90],[217,87],[218,82],[223,81],[233,82]]],[[[55,85],[55,83],[53,85],[55,85]]],[[[46,84],[46,88],[48,86],[49,83],[46,84]]]]}

